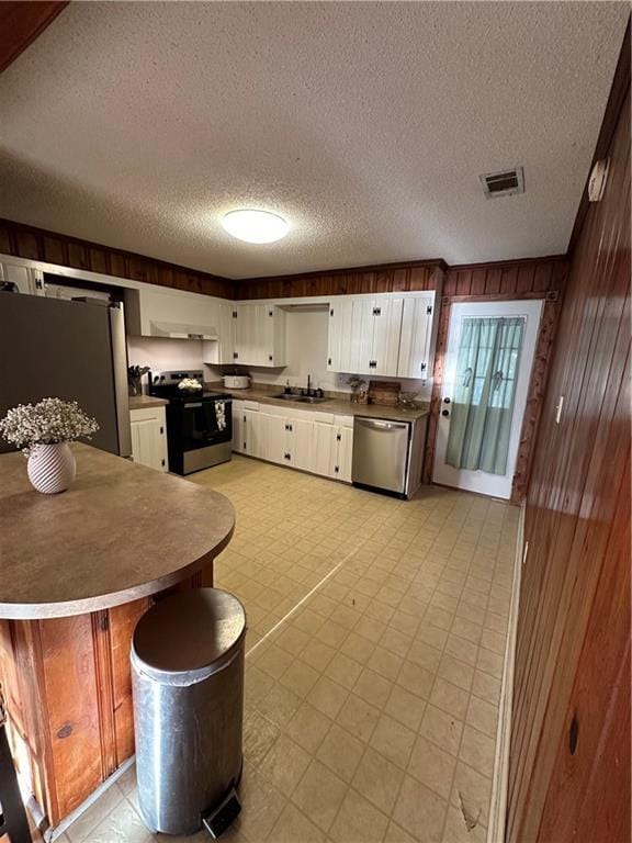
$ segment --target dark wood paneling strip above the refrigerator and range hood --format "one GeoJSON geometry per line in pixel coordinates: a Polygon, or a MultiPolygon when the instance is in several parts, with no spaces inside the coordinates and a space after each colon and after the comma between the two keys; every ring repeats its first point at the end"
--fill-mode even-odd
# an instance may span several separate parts
{"type": "Polygon", "coordinates": [[[88,243],[65,234],[45,232],[9,220],[0,220],[0,254],[45,260],[61,267],[101,272],[190,293],[217,295],[221,299],[233,299],[234,294],[235,282],[219,276],[177,267],[131,251],[88,243]]]}

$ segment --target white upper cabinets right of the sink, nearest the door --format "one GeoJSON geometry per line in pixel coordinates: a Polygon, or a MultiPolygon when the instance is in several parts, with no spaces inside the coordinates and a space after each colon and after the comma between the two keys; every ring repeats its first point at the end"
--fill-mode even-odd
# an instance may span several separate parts
{"type": "Polygon", "coordinates": [[[337,296],[329,306],[327,369],[425,380],[436,336],[433,292],[337,296]]]}

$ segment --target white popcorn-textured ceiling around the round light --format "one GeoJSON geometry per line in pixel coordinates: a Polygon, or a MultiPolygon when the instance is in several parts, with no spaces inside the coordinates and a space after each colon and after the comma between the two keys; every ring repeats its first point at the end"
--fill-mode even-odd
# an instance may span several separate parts
{"type": "Polygon", "coordinates": [[[233,278],[566,250],[628,3],[71,3],[0,77],[0,216],[233,278]],[[524,166],[524,195],[478,175],[524,166]],[[291,234],[241,244],[240,206],[291,234]]]}

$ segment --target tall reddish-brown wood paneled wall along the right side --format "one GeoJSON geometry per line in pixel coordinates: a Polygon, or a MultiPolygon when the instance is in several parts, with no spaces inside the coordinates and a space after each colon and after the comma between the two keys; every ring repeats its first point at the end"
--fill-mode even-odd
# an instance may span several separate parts
{"type": "Polygon", "coordinates": [[[627,49],[622,61],[610,175],[571,255],[527,495],[509,843],[630,840],[627,49]]]}

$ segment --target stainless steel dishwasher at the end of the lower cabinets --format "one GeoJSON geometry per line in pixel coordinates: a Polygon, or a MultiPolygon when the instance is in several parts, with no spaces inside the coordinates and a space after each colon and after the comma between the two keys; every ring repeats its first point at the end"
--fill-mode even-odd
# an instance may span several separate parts
{"type": "Polygon", "coordinates": [[[354,486],[407,496],[411,425],[386,418],[353,419],[354,486]]]}

